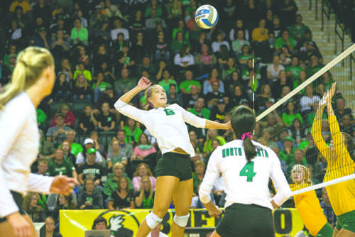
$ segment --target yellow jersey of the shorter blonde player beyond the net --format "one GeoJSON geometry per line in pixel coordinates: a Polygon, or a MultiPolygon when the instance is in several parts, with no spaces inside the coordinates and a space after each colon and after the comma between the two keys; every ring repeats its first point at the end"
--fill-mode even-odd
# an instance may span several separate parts
{"type": "MultiPolygon", "coordinates": [[[[295,184],[290,184],[292,191],[308,186],[310,185],[304,184],[296,186],[295,184]]],[[[297,194],[293,199],[295,200],[295,207],[297,208],[306,228],[310,231],[312,236],[317,236],[317,233],[320,232],[325,224],[327,224],[327,218],[323,214],[315,190],[297,194]]]]}

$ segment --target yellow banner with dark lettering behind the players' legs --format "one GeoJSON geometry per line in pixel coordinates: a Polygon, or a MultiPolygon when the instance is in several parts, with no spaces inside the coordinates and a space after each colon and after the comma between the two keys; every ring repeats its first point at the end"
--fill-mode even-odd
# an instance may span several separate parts
{"type": "MultiPolygon", "coordinates": [[[[121,211],[107,210],[60,210],[60,233],[62,236],[84,236],[85,230],[91,230],[94,219],[102,216],[114,236],[136,236],[138,226],[151,209],[133,209],[121,211]]],[[[171,236],[174,209],[170,209],[161,222],[161,231],[171,236]]],[[[278,209],[274,211],[275,232],[277,237],[295,236],[302,231],[304,225],[297,209],[278,209]]],[[[223,214],[222,214],[223,217],[223,214]]],[[[221,218],[210,217],[205,209],[190,210],[187,227],[215,227],[221,218]]]]}

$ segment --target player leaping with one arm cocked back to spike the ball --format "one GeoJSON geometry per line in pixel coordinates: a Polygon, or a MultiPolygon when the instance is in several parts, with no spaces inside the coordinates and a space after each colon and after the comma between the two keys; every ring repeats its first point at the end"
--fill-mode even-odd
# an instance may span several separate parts
{"type": "Polygon", "coordinates": [[[146,216],[136,233],[147,236],[157,226],[169,209],[171,198],[175,203],[175,216],[171,226],[172,236],[183,236],[189,220],[189,209],[193,196],[193,182],[190,156],[195,155],[190,143],[185,122],[198,128],[227,129],[230,123],[216,123],[199,118],[177,104],[166,104],[166,94],[160,85],[142,77],[138,85],[124,94],[115,104],[116,109],[126,116],[143,123],[158,140],[163,154],[156,166],[155,198],[153,211],[146,216]],[[148,110],[137,109],[129,101],[146,89],[148,110]]]}

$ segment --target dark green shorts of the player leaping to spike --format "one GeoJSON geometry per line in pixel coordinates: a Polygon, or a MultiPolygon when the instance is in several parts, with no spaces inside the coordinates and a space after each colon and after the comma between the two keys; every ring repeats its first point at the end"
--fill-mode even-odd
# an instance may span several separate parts
{"type": "Polygon", "coordinates": [[[155,167],[155,176],[175,176],[180,181],[192,179],[190,155],[164,153],[155,167]]]}

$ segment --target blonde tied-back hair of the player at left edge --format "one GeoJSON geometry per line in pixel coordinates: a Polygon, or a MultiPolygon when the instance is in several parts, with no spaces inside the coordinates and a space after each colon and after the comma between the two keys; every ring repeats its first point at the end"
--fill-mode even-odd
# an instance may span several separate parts
{"type": "Polygon", "coordinates": [[[53,65],[53,55],[45,48],[28,47],[21,51],[17,57],[12,80],[0,94],[0,109],[4,109],[4,106],[24,89],[35,84],[43,70],[53,65]]]}

